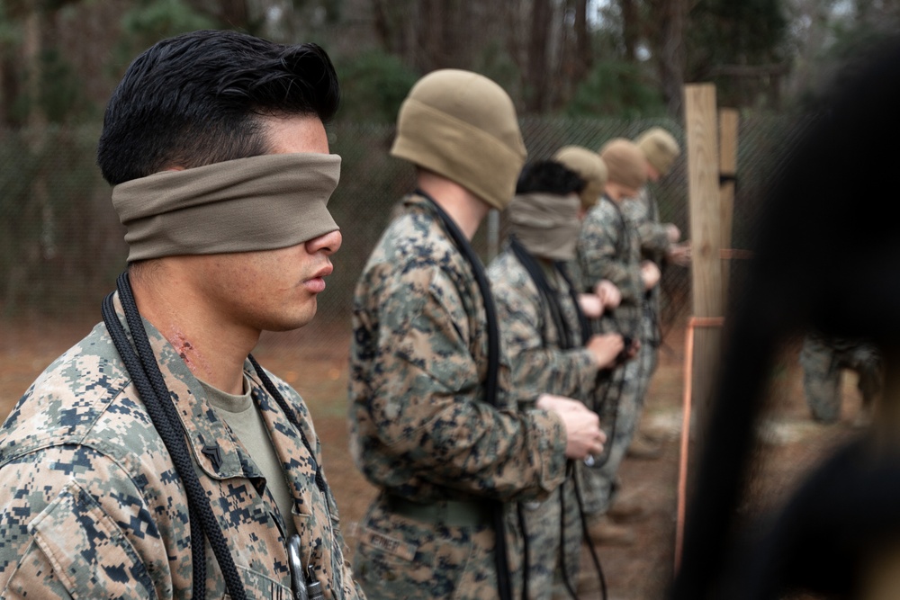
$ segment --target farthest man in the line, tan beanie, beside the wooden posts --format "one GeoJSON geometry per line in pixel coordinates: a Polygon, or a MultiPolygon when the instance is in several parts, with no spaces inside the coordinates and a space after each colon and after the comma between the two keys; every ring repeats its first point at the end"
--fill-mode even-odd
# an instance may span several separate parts
{"type": "MultiPolygon", "coordinates": [[[[641,240],[641,257],[653,261],[662,271],[666,264],[687,266],[690,264],[690,246],[679,243],[681,232],[672,223],[660,222],[660,209],[650,190],[650,183],[658,182],[669,175],[681,148],[671,133],[661,127],[652,127],[635,139],[647,159],[648,183],[634,198],[622,203],[622,214],[637,232],[641,240]]],[[[641,361],[641,391],[646,396],[653,372],[656,371],[657,355],[662,343],[660,333],[660,286],[655,285],[644,296],[644,320],[641,333],[641,349],[637,360],[641,361]]],[[[628,456],[655,459],[662,453],[662,446],[641,430],[635,431],[628,456]]]]}

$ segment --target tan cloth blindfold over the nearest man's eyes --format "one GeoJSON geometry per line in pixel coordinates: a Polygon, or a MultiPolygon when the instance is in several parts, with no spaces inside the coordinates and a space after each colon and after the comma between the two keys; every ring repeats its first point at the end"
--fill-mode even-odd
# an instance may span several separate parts
{"type": "Polygon", "coordinates": [[[295,246],[338,230],[340,157],[270,154],[164,171],[112,188],[128,261],[295,246]]]}

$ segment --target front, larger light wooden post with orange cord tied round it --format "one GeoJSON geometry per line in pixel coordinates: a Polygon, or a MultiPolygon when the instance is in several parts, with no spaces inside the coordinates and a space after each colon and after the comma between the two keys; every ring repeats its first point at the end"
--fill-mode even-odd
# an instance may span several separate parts
{"type": "MultiPolygon", "coordinates": [[[[716,318],[723,316],[716,86],[685,85],[684,101],[693,316],[716,318]]],[[[720,333],[719,327],[704,327],[695,333],[691,375],[695,452],[703,445],[702,432],[719,362],[720,333]]]]}

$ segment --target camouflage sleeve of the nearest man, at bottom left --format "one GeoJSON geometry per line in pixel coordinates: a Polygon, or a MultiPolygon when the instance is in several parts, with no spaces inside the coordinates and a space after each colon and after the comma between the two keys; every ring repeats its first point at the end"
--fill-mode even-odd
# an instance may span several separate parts
{"type": "Polygon", "coordinates": [[[139,489],[89,448],[51,447],[4,465],[0,527],[4,598],[171,596],[166,548],[139,489]]]}

